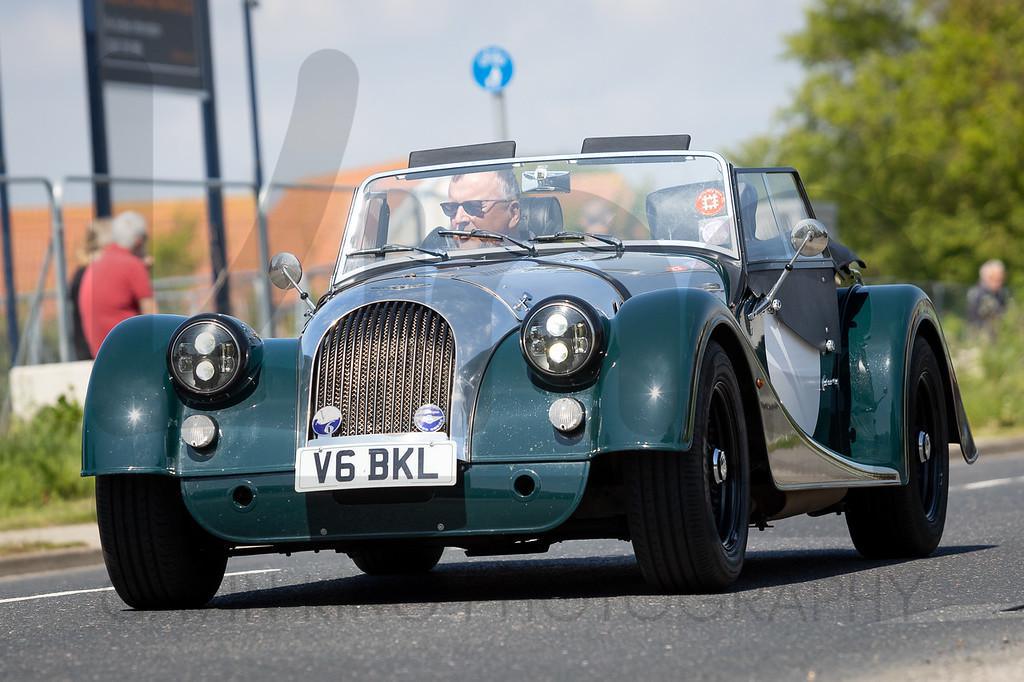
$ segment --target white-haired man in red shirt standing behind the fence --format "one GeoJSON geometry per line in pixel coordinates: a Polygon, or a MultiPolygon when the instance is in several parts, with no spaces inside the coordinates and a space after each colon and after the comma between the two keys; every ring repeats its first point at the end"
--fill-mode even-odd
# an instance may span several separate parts
{"type": "Polygon", "coordinates": [[[134,211],[118,215],[111,224],[111,244],[82,275],[78,305],[93,357],[118,323],[157,311],[150,271],[139,257],[145,239],[145,218],[134,211]]]}

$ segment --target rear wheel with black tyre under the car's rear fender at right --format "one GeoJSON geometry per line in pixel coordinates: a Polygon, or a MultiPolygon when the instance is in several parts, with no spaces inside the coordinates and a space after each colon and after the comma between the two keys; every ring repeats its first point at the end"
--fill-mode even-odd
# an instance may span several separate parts
{"type": "Polygon", "coordinates": [[[908,484],[851,491],[846,523],[868,559],[928,556],[939,546],[949,494],[949,444],[942,375],[935,352],[918,337],[907,383],[908,484]]]}

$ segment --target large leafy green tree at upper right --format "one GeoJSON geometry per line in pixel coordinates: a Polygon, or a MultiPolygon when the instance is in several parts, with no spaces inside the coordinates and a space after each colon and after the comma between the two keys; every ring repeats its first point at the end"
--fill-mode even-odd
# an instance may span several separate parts
{"type": "Polygon", "coordinates": [[[835,202],[871,274],[968,283],[1024,271],[1024,5],[818,0],[788,54],[807,68],[751,165],[796,166],[835,202]]]}

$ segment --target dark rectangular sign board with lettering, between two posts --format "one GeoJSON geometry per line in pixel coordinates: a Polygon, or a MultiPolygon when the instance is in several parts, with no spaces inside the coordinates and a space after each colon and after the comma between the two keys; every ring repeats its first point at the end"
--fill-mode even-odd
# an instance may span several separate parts
{"type": "Polygon", "coordinates": [[[207,0],[95,2],[103,81],[207,89],[207,0]]]}

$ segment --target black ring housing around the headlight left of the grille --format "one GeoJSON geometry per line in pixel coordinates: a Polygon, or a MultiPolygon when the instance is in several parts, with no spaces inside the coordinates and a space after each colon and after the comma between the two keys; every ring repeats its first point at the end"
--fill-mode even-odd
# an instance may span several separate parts
{"type": "Polygon", "coordinates": [[[262,360],[263,342],[245,324],[221,313],[201,313],[185,319],[174,330],[167,344],[167,371],[178,395],[186,402],[208,404],[228,399],[253,384],[253,377],[262,360]],[[238,364],[231,378],[223,385],[201,389],[183,381],[174,367],[174,349],[181,337],[200,325],[213,325],[227,334],[238,350],[238,364]]]}

